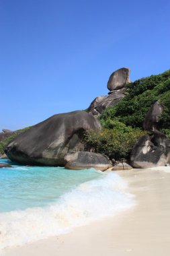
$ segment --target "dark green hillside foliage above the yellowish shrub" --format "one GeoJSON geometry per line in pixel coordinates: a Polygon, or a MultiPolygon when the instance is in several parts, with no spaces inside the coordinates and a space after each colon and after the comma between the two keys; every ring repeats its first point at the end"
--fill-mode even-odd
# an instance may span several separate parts
{"type": "Polygon", "coordinates": [[[159,100],[163,104],[160,129],[170,129],[170,70],[138,79],[127,84],[126,88],[126,96],[116,106],[106,108],[101,113],[101,123],[116,119],[125,125],[141,129],[149,108],[159,100]]]}

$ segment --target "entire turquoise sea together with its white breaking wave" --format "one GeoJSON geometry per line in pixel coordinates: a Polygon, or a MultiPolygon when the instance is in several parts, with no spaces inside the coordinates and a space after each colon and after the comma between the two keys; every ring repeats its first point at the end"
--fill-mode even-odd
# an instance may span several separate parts
{"type": "Polygon", "coordinates": [[[71,232],[134,205],[115,172],[11,164],[0,168],[0,250],[71,232]]]}

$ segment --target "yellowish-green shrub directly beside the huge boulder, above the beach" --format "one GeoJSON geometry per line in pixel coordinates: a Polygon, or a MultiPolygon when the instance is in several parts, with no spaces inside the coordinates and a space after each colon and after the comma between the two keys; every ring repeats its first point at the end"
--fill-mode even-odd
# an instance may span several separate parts
{"type": "Polygon", "coordinates": [[[108,123],[109,127],[112,124],[112,129],[103,128],[102,131],[87,131],[85,136],[87,148],[93,148],[95,152],[105,154],[110,159],[128,159],[134,143],[145,132],[140,129],[133,129],[118,121],[108,121],[108,123]]]}

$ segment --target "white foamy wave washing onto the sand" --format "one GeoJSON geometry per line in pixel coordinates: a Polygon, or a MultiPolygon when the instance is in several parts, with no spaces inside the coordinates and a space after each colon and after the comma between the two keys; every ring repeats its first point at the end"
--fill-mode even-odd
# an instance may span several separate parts
{"type": "Polygon", "coordinates": [[[126,183],[116,173],[103,174],[62,195],[48,207],[0,214],[0,249],[70,232],[76,226],[114,216],[134,205],[126,183]]]}

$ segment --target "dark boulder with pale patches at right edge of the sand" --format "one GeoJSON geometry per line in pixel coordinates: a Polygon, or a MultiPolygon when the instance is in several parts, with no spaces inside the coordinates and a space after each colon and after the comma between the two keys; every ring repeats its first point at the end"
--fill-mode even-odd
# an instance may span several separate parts
{"type": "Polygon", "coordinates": [[[138,139],[132,149],[130,164],[134,168],[151,168],[170,164],[170,139],[154,132],[138,139]]]}

